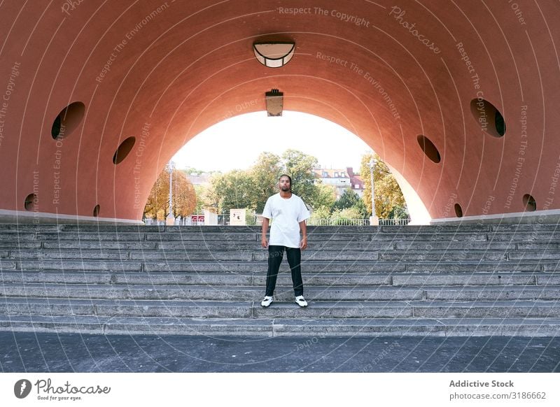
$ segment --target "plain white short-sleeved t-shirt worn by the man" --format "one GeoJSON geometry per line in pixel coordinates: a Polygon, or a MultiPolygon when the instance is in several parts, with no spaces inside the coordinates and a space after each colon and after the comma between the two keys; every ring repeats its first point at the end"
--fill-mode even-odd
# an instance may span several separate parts
{"type": "Polygon", "coordinates": [[[270,227],[269,245],[300,247],[300,222],[309,218],[309,210],[302,199],[295,194],[284,199],[274,194],[267,199],[262,216],[274,220],[270,227]]]}

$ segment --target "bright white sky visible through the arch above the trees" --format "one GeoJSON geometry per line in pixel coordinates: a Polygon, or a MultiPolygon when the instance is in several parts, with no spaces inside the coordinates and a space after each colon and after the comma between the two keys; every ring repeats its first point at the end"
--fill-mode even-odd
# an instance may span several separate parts
{"type": "Polygon", "coordinates": [[[323,168],[352,166],[358,172],[362,155],[371,152],[338,124],[307,113],[282,114],[247,113],[219,122],[186,143],[173,161],[179,169],[227,172],[248,169],[263,151],[281,155],[292,148],[313,155],[323,168]]]}

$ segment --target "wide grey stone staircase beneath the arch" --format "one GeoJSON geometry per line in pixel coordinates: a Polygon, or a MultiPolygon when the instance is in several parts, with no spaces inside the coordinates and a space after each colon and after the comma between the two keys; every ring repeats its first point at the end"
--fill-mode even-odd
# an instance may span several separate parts
{"type": "Polygon", "coordinates": [[[258,227],[0,224],[0,330],[207,336],[556,336],[560,230],[309,227],[262,308],[258,227]]]}

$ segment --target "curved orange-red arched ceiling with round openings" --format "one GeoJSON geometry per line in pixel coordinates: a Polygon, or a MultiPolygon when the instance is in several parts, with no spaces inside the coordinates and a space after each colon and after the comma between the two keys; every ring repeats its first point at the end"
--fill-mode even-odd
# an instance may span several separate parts
{"type": "Polygon", "coordinates": [[[301,3],[3,1],[0,214],[139,220],[182,145],[273,88],[362,138],[433,218],[559,208],[557,2],[301,3]],[[295,55],[267,68],[265,41],[295,55]]]}

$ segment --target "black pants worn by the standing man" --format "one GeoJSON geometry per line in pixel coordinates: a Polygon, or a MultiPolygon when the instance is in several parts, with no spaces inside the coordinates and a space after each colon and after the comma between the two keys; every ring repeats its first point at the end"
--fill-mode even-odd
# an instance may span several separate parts
{"type": "Polygon", "coordinates": [[[295,297],[303,295],[302,281],[302,251],[300,248],[286,248],[286,246],[268,246],[268,272],[267,272],[267,292],[265,295],[272,297],[274,288],[276,287],[276,277],[283,259],[284,250],[288,257],[288,264],[292,271],[292,283],[295,297]]]}

